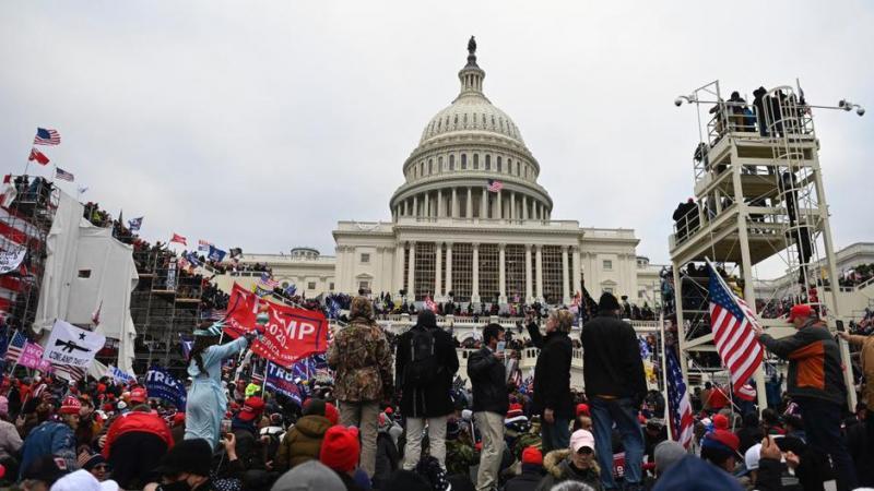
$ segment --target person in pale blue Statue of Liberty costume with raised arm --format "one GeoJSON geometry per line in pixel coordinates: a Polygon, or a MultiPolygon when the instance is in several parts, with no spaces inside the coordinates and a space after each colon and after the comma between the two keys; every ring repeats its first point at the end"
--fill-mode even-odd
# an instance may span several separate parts
{"type": "Polygon", "coordinates": [[[227,396],[222,384],[222,363],[246,349],[257,336],[251,331],[231,343],[218,344],[222,323],[217,322],[205,330],[194,331],[194,346],[188,363],[191,386],[185,412],[185,439],[203,439],[215,448],[222,417],[227,411],[227,396]]]}

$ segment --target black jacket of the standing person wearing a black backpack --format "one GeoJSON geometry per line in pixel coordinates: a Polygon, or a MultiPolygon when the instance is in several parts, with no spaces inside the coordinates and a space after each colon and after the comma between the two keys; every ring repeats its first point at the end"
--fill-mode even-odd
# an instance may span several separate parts
{"type": "Polygon", "coordinates": [[[439,373],[433,384],[415,388],[404,384],[403,373],[411,360],[412,330],[398,338],[394,357],[394,374],[401,387],[401,412],[410,418],[430,418],[446,416],[454,410],[452,406],[452,379],[458,372],[458,355],[452,338],[439,327],[427,327],[434,332],[434,356],[437,357],[439,373]]]}

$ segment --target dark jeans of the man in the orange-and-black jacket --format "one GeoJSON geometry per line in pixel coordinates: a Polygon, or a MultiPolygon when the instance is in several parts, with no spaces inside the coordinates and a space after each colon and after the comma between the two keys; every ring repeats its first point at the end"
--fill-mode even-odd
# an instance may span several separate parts
{"type": "Polygon", "coordinates": [[[840,416],[843,408],[835,403],[814,398],[795,398],[801,409],[801,420],[807,443],[831,456],[835,474],[838,478],[838,490],[855,489],[855,466],[847,451],[843,435],[840,433],[840,416]]]}

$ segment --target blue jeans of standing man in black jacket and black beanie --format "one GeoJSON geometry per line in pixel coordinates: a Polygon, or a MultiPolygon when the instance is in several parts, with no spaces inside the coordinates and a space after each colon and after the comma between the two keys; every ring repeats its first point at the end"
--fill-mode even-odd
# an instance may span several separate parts
{"type": "Polygon", "coordinates": [[[641,488],[643,462],[643,432],[637,421],[637,407],[630,397],[602,399],[592,397],[589,404],[594,429],[594,453],[601,466],[601,484],[605,490],[618,489],[613,479],[613,424],[625,447],[625,489],[641,488]]]}

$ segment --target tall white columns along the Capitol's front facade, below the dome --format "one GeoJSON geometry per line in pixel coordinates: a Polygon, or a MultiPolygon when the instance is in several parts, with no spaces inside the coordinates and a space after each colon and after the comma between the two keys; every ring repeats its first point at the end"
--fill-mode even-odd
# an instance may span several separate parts
{"type": "MultiPolygon", "coordinates": [[[[434,299],[442,301],[446,296],[452,291],[452,242],[437,241],[434,247],[434,299]],[[444,254],[446,248],[446,263],[444,264],[444,254]],[[446,268],[446,278],[442,278],[444,268],[446,268]]],[[[507,303],[507,264],[506,264],[506,243],[498,244],[498,302],[507,303]]],[[[543,301],[543,246],[542,244],[524,244],[525,248],[525,302],[543,301]],[[532,254],[533,250],[533,254],[532,254]],[[532,277],[532,261],[534,262],[534,272],[532,277]]],[[[408,298],[415,298],[415,268],[416,268],[416,242],[399,242],[395,249],[397,277],[400,278],[398,290],[404,286],[403,271],[404,271],[404,256],[406,258],[406,295],[408,298]],[[409,250],[408,250],[409,247],[409,250]],[[409,252],[405,254],[405,252],[409,252]]],[[[479,303],[480,299],[480,244],[471,243],[473,253],[471,261],[471,301],[479,303]]],[[[572,285],[579,285],[581,280],[580,274],[580,248],[577,246],[562,246],[562,294],[563,303],[570,303],[571,296],[576,295],[572,285]],[[570,263],[570,270],[568,270],[570,263]],[[570,271],[570,273],[569,273],[570,271]]]]}

